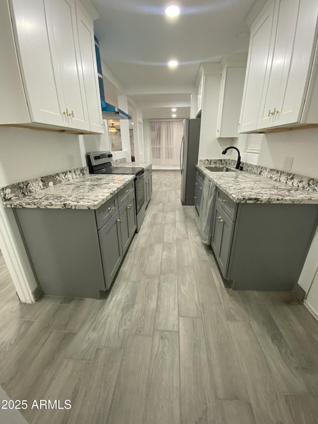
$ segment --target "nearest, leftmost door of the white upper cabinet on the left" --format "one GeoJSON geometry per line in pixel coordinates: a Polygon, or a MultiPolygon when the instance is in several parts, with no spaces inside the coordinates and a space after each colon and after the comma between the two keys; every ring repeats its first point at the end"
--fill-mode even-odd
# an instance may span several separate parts
{"type": "Polygon", "coordinates": [[[56,79],[50,54],[46,3],[11,0],[10,6],[31,121],[66,127],[61,79],[56,79]]]}

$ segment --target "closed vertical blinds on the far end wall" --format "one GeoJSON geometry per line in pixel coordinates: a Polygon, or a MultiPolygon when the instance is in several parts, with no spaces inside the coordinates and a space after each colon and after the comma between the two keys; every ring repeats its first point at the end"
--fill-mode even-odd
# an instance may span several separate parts
{"type": "Polygon", "coordinates": [[[179,165],[183,121],[150,120],[151,152],[154,165],[179,165]]]}

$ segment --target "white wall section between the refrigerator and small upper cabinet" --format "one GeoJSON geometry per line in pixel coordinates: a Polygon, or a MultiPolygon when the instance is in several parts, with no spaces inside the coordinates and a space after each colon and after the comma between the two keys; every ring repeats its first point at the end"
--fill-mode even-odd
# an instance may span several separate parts
{"type": "MultiPolygon", "coordinates": [[[[232,138],[217,139],[217,118],[220,98],[221,72],[205,75],[201,114],[199,159],[224,158],[222,151],[233,145],[232,138]]],[[[229,155],[230,158],[230,155],[229,155]]]]}

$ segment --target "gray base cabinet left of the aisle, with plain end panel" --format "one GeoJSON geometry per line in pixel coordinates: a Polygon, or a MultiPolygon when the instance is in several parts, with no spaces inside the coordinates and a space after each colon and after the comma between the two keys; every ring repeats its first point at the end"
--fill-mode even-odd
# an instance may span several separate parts
{"type": "Polygon", "coordinates": [[[96,210],[16,208],[14,213],[43,293],[99,299],[136,231],[134,182],[96,210]]]}

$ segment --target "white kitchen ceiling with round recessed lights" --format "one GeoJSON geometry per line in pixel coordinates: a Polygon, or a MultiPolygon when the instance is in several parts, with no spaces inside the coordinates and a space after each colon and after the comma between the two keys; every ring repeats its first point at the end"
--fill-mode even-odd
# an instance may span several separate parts
{"type": "MultiPolygon", "coordinates": [[[[244,19],[254,0],[92,2],[100,15],[94,22],[94,30],[101,59],[128,90],[143,87],[145,92],[146,86],[194,85],[201,63],[220,62],[225,54],[248,49],[248,38],[239,39],[237,35],[249,31],[244,19]],[[181,8],[179,18],[173,23],[163,13],[169,4],[181,8]],[[179,61],[177,69],[168,69],[169,59],[179,61]]],[[[187,100],[168,94],[167,98],[161,94],[154,96],[134,95],[131,100],[143,110],[144,116],[152,114],[149,110],[156,108],[156,102],[157,109],[167,107],[166,101],[179,100],[182,107],[190,106],[189,94],[187,100]]],[[[185,109],[184,112],[187,113],[185,109]]]]}

